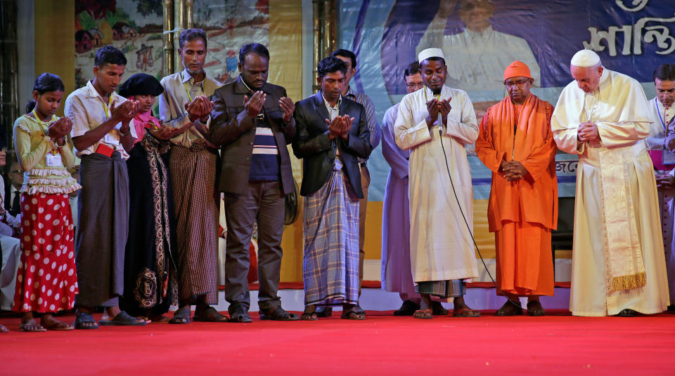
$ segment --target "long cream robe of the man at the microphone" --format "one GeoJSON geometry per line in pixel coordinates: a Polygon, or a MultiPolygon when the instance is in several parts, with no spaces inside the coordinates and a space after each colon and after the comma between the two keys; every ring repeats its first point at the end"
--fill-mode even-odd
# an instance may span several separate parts
{"type": "Polygon", "coordinates": [[[461,210],[473,232],[473,189],[464,145],[473,144],[478,137],[476,114],[463,90],[444,86],[441,99],[451,98],[452,109],[440,136],[437,126],[428,128],[425,122],[429,114],[425,102],[432,98],[429,88],[406,95],[394,123],[397,145],[411,150],[410,255],[416,283],[478,276],[471,234],[445,162],[447,158],[461,210]]]}

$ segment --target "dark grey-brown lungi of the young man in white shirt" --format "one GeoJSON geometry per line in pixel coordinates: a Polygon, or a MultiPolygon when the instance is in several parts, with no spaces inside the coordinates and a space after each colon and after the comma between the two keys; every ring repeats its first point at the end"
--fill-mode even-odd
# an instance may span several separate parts
{"type": "Polygon", "coordinates": [[[82,156],[77,195],[75,262],[83,307],[113,307],[124,293],[124,246],[129,231],[129,177],[119,152],[82,156]]]}

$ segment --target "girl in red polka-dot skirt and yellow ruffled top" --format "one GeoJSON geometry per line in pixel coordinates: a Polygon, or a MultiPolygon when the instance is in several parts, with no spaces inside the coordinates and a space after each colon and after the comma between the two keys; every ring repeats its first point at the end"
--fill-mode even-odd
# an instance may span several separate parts
{"type": "Polygon", "coordinates": [[[21,262],[16,278],[15,311],[23,312],[23,332],[72,330],[53,313],[72,309],[77,294],[73,225],[68,194],[80,189],[68,168],[75,162],[72,123],[55,115],[63,82],[43,73],[35,80],[26,114],[14,122],[14,148],[21,170],[21,262]],[[33,312],[42,314],[38,324],[33,312]]]}

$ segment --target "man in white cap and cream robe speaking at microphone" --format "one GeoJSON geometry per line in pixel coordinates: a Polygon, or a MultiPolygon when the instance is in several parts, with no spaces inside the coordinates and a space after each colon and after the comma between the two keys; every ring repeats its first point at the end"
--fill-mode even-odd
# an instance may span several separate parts
{"type": "Polygon", "coordinates": [[[428,48],[418,58],[425,87],[403,98],[394,123],[397,145],[411,151],[410,257],[422,298],[413,317],[433,317],[430,295],[454,297],[453,316],[476,317],[480,313],[463,297],[465,279],[478,275],[464,149],[478,137],[476,114],[463,90],[444,85],[447,67],[440,48],[428,48]]]}

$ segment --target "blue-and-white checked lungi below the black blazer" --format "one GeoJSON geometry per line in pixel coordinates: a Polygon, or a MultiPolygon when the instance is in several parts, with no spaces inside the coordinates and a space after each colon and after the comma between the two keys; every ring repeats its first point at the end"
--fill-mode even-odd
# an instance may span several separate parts
{"type": "Polygon", "coordinates": [[[304,205],[304,304],[359,300],[359,199],[335,159],[333,173],[304,205]]]}

